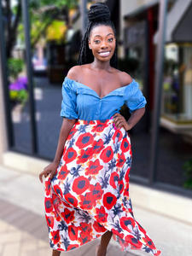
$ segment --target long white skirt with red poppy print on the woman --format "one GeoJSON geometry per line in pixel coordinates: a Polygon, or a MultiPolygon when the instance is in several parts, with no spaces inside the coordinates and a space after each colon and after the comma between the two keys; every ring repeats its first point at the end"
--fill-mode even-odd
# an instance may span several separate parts
{"type": "Polygon", "coordinates": [[[160,255],[134,218],[129,195],[131,141],[113,119],[78,120],[67,137],[55,177],[45,180],[50,247],[70,251],[108,230],[121,250],[160,255]]]}

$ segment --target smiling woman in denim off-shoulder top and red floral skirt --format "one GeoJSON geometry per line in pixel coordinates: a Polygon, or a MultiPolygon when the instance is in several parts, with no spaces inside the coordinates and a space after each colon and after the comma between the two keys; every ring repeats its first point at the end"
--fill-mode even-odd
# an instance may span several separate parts
{"type": "Polygon", "coordinates": [[[96,256],[113,239],[121,250],[160,255],[133,216],[129,197],[131,143],[128,132],[145,112],[138,84],[117,67],[117,42],[108,7],[95,3],[82,40],[78,66],[62,85],[63,124],[55,160],[45,180],[45,214],[53,256],[102,236],[96,256]],[[119,114],[130,108],[126,122],[119,114]],[[113,118],[113,119],[112,119],[113,118]]]}

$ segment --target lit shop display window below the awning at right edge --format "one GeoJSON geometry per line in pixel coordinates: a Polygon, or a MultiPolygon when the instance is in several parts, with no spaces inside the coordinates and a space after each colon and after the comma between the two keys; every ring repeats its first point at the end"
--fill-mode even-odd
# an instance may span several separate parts
{"type": "Polygon", "coordinates": [[[165,47],[161,115],[192,124],[192,44],[165,47]]]}

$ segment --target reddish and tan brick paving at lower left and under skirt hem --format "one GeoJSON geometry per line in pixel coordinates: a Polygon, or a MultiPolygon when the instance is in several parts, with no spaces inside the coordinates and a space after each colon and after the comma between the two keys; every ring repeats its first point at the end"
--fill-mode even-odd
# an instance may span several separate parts
{"type": "MultiPolygon", "coordinates": [[[[49,256],[48,229],[45,218],[0,199],[0,256],[49,256]]],[[[65,255],[94,256],[95,247],[100,239],[91,241],[84,247],[65,255]]],[[[133,253],[122,253],[119,247],[108,246],[108,256],[134,256],[133,253]]],[[[64,254],[64,253],[61,253],[64,254]]]]}

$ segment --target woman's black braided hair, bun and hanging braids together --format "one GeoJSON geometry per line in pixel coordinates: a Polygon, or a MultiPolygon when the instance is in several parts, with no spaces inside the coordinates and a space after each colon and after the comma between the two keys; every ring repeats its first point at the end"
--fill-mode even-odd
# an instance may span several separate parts
{"type": "MultiPolygon", "coordinates": [[[[84,38],[82,38],[81,46],[79,50],[78,65],[84,65],[94,61],[94,55],[92,54],[91,49],[89,48],[88,39],[90,38],[90,32],[95,26],[111,26],[116,38],[116,32],[112,20],[110,20],[111,14],[108,9],[108,6],[105,3],[94,3],[90,5],[90,10],[88,11],[88,25],[86,32],[84,33],[84,38]]],[[[110,60],[110,65],[114,68],[118,66],[117,58],[117,40],[115,43],[115,49],[113,56],[110,60]]]]}

